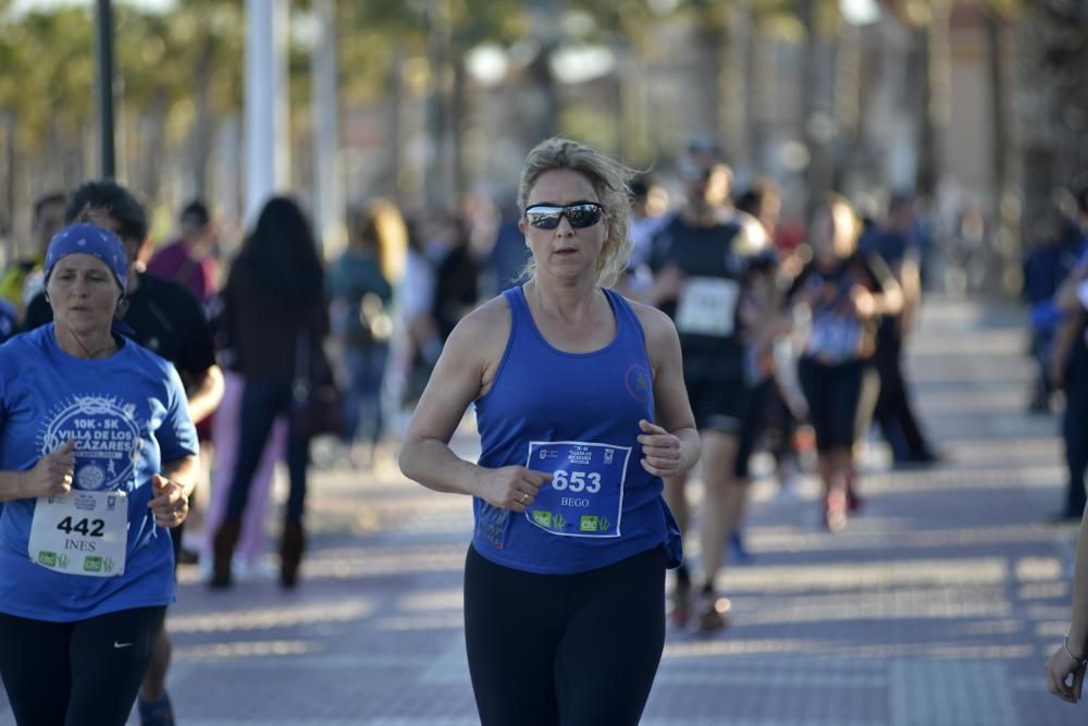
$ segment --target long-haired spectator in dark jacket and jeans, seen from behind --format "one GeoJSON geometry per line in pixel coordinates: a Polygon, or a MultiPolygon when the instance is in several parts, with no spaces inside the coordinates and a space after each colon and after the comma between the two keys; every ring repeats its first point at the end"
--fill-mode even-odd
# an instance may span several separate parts
{"type": "Polygon", "coordinates": [[[271,199],[246,237],[223,290],[223,321],[231,367],[242,373],[242,421],[226,517],[215,531],[210,585],[232,585],[231,561],[254,473],[280,415],[288,415],[287,472],[290,490],[280,542],[280,583],[298,581],[306,534],[306,478],[309,433],[289,414],[297,385],[313,387],[327,374],[323,342],[329,333],[324,271],[313,231],[298,205],[271,199]]]}

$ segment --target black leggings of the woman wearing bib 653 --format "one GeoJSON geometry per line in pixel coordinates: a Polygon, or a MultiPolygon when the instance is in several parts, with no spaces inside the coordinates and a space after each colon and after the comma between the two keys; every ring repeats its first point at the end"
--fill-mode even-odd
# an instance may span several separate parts
{"type": "Polygon", "coordinates": [[[535,575],[469,547],[465,639],[483,726],[633,726],[665,647],[665,551],[535,575]]]}

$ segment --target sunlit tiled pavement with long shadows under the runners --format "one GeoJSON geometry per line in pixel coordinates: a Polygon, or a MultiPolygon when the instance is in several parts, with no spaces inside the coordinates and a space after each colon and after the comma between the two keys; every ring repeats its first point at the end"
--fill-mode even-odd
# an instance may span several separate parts
{"type": "MultiPolygon", "coordinates": [[[[1018,324],[1001,307],[927,305],[910,370],[949,463],[888,471],[874,445],[867,506],[845,532],[818,528],[815,482],[796,499],[755,485],[755,558],[724,580],[733,627],[669,633],[644,724],[1088,723],[1088,705],[1043,687],[1074,531],[1041,524],[1061,497],[1060,446],[1053,419],[1023,413],[1018,324]]],[[[468,500],[392,472],[324,471],[311,501],[298,592],[209,592],[185,573],[170,617],[180,723],[478,723],[460,615],[468,500]]]]}

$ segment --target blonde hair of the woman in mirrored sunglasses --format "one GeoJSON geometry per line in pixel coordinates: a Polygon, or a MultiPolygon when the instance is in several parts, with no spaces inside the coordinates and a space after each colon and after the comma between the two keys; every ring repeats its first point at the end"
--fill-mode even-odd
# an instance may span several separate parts
{"type": "MultiPolygon", "coordinates": [[[[608,235],[601,249],[601,257],[597,258],[596,272],[597,284],[607,287],[616,282],[631,255],[631,241],[627,236],[627,218],[631,209],[631,190],[628,182],[635,172],[584,144],[569,138],[546,139],[529,152],[526,165],[521,170],[518,207],[522,212],[529,193],[541,174],[560,170],[569,170],[584,176],[593,185],[597,200],[605,209],[608,235]]],[[[535,272],[535,260],[530,259],[522,274],[532,276],[535,272]]]]}

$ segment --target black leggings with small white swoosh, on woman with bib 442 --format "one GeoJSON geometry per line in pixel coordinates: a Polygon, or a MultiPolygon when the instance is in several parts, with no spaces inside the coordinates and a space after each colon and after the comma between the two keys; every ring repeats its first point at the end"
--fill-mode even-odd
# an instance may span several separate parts
{"type": "Polygon", "coordinates": [[[76,623],[0,613],[0,678],[20,726],[124,726],[165,607],[76,623]]]}

